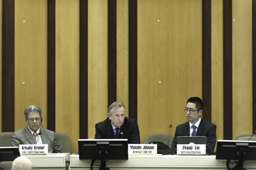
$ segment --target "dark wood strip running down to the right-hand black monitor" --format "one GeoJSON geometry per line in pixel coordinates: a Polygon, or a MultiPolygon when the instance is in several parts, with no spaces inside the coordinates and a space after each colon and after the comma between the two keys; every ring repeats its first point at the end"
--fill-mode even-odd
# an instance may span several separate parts
{"type": "Polygon", "coordinates": [[[232,0],[223,1],[224,139],[232,140],[232,0]]]}

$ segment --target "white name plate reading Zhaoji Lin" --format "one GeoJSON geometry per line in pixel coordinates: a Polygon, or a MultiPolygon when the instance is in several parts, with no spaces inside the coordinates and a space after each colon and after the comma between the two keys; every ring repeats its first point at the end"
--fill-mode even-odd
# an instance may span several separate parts
{"type": "Polygon", "coordinates": [[[178,144],[177,145],[177,154],[180,153],[201,153],[206,154],[206,145],[196,145],[196,144],[178,144]]]}

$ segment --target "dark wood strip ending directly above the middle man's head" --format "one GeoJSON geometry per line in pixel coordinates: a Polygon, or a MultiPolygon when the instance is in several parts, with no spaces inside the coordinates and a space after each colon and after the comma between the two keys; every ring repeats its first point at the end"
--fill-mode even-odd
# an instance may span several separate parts
{"type": "Polygon", "coordinates": [[[108,106],[117,100],[117,0],[108,0],[108,106]]]}

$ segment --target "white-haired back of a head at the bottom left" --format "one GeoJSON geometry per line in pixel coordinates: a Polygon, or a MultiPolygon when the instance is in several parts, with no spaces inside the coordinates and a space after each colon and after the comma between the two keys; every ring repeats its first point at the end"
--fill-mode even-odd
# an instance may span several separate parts
{"type": "Polygon", "coordinates": [[[32,170],[32,163],[31,161],[24,156],[20,156],[16,158],[12,163],[12,170],[32,170]]]}

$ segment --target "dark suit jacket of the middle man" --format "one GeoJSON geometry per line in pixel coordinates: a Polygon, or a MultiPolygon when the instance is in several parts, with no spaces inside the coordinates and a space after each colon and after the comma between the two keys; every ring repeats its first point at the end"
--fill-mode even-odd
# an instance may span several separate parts
{"type": "MultiPolygon", "coordinates": [[[[109,118],[96,123],[95,131],[95,139],[114,139],[114,130],[109,118]]],[[[123,139],[128,139],[129,144],[140,144],[139,127],[135,119],[125,117],[123,125],[120,128],[121,131],[123,131],[123,139]]]]}

